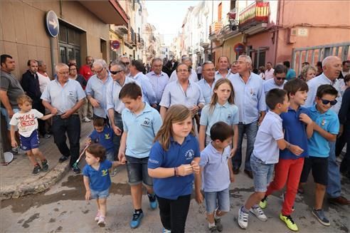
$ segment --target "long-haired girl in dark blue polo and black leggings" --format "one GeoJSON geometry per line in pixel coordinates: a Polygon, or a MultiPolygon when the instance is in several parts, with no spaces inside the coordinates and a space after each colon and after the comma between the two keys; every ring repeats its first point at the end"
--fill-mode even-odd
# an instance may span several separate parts
{"type": "Polygon", "coordinates": [[[172,105],[154,141],[148,173],[154,178],[163,232],[184,232],[193,180],[197,190],[200,178],[200,153],[191,110],[184,105],[172,105]]]}

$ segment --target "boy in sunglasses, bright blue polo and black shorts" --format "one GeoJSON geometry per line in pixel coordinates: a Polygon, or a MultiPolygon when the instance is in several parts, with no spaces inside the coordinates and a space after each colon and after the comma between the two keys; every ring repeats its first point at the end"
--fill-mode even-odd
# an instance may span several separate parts
{"type": "Polygon", "coordinates": [[[336,104],[338,91],[329,84],[317,88],[316,105],[309,107],[310,118],[314,121],[314,133],[308,140],[309,157],[304,160],[300,183],[307,182],[310,170],[316,183],[315,204],[312,214],[323,224],[329,226],[329,219],[324,216],[322,204],[328,182],[329,141],[334,142],[339,133],[339,119],[329,110],[336,104]]]}

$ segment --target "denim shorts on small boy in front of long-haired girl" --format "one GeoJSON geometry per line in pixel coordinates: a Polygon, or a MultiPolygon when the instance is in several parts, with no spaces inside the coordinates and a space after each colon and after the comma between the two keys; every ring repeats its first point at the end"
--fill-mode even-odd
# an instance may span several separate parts
{"type": "Polygon", "coordinates": [[[216,208],[223,212],[230,211],[230,193],[228,188],[219,192],[204,192],[206,199],[206,212],[213,213],[216,208]]]}

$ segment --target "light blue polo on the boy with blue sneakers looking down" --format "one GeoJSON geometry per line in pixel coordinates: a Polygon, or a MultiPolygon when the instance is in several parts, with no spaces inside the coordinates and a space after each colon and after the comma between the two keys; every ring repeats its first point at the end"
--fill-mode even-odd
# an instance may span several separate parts
{"type": "Polygon", "coordinates": [[[124,131],[127,132],[125,155],[137,158],[149,157],[153,140],[161,128],[161,116],[158,111],[148,103],[144,105],[144,110],[139,115],[125,108],[122,112],[122,120],[124,131]]]}

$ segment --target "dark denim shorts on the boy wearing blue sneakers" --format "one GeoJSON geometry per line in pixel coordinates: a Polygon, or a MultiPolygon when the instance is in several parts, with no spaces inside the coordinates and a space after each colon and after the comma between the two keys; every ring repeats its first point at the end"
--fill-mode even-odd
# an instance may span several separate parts
{"type": "Polygon", "coordinates": [[[143,182],[144,185],[153,186],[153,179],[148,175],[148,158],[127,157],[127,177],[129,185],[138,185],[143,182]]]}

